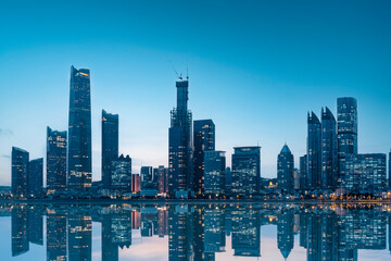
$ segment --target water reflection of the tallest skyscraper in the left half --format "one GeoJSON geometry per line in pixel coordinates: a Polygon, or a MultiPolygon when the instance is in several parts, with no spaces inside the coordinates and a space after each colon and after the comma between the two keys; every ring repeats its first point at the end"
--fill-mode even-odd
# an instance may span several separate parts
{"type": "Polygon", "coordinates": [[[67,215],[68,260],[89,261],[92,258],[92,219],[89,215],[67,215]]]}

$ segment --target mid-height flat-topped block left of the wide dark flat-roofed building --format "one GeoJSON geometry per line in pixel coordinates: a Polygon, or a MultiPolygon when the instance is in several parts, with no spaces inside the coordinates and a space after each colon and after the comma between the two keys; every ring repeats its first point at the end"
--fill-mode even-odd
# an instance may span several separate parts
{"type": "Polygon", "coordinates": [[[204,195],[214,197],[225,194],[225,151],[204,151],[204,195]]]}

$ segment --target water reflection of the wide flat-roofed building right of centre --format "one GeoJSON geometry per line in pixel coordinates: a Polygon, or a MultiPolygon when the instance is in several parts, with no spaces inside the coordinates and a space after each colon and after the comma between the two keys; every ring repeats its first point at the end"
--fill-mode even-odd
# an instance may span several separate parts
{"type": "Polygon", "coordinates": [[[252,209],[239,208],[231,211],[232,215],[232,249],[235,256],[261,256],[260,214],[252,209]]]}

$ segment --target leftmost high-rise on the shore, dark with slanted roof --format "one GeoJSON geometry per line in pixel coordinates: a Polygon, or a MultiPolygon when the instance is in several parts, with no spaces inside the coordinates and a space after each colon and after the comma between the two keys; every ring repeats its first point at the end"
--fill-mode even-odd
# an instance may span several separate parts
{"type": "Polygon", "coordinates": [[[12,147],[12,196],[25,198],[28,195],[28,157],[26,150],[12,147]]]}

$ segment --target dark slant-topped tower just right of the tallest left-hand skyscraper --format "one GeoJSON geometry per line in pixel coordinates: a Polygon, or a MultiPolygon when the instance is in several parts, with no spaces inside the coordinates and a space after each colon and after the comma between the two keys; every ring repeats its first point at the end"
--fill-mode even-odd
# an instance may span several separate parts
{"type": "Polygon", "coordinates": [[[111,163],[118,158],[118,114],[102,110],[102,183],[111,188],[111,163]]]}

